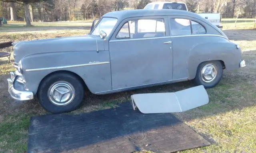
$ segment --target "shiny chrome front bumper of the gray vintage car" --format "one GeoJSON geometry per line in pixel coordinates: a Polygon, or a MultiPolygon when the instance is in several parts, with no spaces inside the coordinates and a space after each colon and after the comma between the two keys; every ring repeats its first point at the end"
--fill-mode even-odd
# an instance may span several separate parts
{"type": "MultiPolygon", "coordinates": [[[[15,100],[30,100],[34,98],[33,92],[30,91],[19,91],[14,88],[14,84],[18,84],[20,82],[16,81],[16,76],[13,72],[10,72],[11,78],[8,78],[8,92],[12,98],[15,100]]],[[[24,85],[24,84],[22,84],[24,85]]]]}

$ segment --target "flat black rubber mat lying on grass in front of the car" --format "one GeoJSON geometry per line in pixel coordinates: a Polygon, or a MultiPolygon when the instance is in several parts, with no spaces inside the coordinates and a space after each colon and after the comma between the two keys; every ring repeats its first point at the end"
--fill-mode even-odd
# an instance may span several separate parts
{"type": "Polygon", "coordinates": [[[142,114],[130,102],[80,115],[31,117],[28,153],[171,153],[210,145],[172,114],[142,114]]]}

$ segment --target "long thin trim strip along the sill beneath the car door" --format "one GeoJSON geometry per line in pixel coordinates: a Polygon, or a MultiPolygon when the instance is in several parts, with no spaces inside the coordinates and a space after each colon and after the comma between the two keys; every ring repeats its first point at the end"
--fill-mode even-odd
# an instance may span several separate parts
{"type": "Polygon", "coordinates": [[[119,88],[116,90],[109,90],[109,91],[103,91],[103,92],[96,92],[95,94],[111,94],[114,92],[121,92],[121,91],[127,91],[127,90],[134,90],[134,89],[139,89],[139,88],[146,88],[146,87],[150,87],[150,86],[158,86],[158,85],[163,85],[163,84],[169,84],[169,83],[175,83],[175,82],[182,82],[182,81],[187,81],[188,78],[182,78],[182,79],[178,79],[178,80],[168,80],[168,81],[164,81],[164,82],[158,82],[158,83],[152,83],[152,84],[145,84],[145,85],[141,85],[141,86],[133,86],[133,87],[129,87],[129,88],[119,88]]]}

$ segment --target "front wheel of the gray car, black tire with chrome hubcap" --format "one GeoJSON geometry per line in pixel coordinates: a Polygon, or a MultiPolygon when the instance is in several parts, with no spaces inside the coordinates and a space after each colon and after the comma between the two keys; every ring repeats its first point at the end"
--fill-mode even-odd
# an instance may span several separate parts
{"type": "Polygon", "coordinates": [[[80,79],[69,73],[55,73],[44,78],[38,88],[41,106],[53,114],[71,112],[84,98],[80,79]]]}

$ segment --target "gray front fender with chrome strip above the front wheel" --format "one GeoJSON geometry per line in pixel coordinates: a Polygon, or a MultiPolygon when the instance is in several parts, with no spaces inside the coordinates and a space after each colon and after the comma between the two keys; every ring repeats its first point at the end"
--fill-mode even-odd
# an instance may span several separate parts
{"type": "Polygon", "coordinates": [[[39,53],[22,59],[28,90],[36,94],[41,80],[56,71],[70,71],[80,76],[92,93],[111,90],[108,51],[70,51],[39,53]]]}

